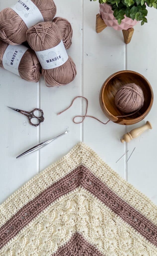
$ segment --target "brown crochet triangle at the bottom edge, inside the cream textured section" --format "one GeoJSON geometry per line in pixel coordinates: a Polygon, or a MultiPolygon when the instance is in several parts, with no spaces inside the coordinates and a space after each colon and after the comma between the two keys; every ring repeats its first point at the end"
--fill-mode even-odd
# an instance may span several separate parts
{"type": "Polygon", "coordinates": [[[94,246],[89,244],[79,233],[73,235],[68,243],[63,245],[52,256],[103,256],[94,246]]]}

